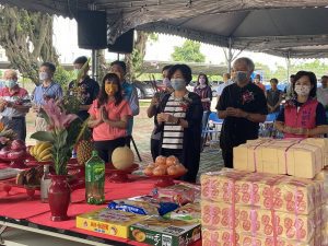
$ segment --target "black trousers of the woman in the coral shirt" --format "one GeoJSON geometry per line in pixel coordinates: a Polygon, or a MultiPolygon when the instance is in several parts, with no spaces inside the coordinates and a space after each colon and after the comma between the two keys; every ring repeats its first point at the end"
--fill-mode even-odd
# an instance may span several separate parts
{"type": "Polygon", "coordinates": [[[98,152],[101,159],[105,163],[112,163],[113,151],[118,147],[126,145],[126,138],[118,138],[106,141],[94,141],[94,149],[98,152]]]}

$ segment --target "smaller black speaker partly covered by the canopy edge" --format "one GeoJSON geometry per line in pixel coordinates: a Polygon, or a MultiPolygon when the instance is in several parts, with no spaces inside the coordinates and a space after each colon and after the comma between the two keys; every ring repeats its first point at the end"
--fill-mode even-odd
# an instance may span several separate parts
{"type": "Polygon", "coordinates": [[[110,52],[129,54],[133,50],[134,43],[134,30],[128,32],[116,38],[113,45],[108,44],[108,50],[110,52]]]}

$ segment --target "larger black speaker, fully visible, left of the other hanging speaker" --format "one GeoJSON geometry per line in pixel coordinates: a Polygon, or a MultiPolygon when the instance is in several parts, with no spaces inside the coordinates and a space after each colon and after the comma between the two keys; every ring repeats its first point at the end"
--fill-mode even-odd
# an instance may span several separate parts
{"type": "Polygon", "coordinates": [[[107,47],[107,20],[105,11],[79,11],[78,45],[83,49],[107,47]]]}

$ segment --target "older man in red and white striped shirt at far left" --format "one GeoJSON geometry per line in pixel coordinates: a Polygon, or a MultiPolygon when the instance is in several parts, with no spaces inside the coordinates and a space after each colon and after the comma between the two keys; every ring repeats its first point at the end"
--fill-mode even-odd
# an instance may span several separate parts
{"type": "Polygon", "coordinates": [[[17,139],[25,141],[25,116],[31,107],[28,93],[17,84],[16,71],[7,70],[3,80],[4,87],[0,90],[1,121],[14,130],[17,139]]]}

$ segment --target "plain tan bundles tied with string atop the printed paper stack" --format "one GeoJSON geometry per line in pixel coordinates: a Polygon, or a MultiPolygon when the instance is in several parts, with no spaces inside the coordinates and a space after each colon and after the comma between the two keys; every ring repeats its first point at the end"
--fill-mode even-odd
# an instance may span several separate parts
{"type": "Polygon", "coordinates": [[[319,140],[247,141],[234,148],[234,168],[313,178],[325,165],[324,150],[319,140]]]}

